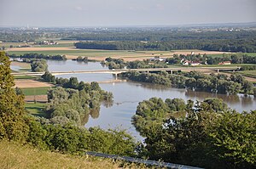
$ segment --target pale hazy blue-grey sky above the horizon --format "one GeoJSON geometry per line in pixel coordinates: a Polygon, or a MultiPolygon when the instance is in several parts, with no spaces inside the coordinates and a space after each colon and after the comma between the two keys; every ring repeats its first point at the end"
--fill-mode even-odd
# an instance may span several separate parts
{"type": "Polygon", "coordinates": [[[240,22],[256,22],[256,0],[0,0],[2,26],[240,22]]]}

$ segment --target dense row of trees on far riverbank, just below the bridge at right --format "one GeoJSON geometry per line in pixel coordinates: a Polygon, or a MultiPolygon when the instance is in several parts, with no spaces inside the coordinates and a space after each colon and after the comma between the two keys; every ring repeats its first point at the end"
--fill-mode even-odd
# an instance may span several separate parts
{"type": "Polygon", "coordinates": [[[174,74],[168,74],[166,71],[160,71],[160,73],[128,71],[122,73],[121,76],[136,82],[149,82],[179,88],[186,87],[211,93],[253,94],[255,90],[252,82],[248,82],[243,76],[236,73],[229,77],[213,73],[206,75],[199,71],[174,71],[174,74]]]}

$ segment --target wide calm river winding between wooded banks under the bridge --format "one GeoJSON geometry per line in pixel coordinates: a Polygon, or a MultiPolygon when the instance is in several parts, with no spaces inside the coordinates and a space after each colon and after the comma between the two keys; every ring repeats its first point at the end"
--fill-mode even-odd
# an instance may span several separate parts
{"type": "MultiPolygon", "coordinates": [[[[58,70],[103,70],[99,62],[77,62],[67,61],[48,61],[49,71],[58,70]]],[[[173,87],[162,87],[140,82],[111,82],[111,74],[73,74],[62,75],[58,77],[69,78],[78,77],[79,81],[100,82],[102,89],[113,93],[113,105],[106,106],[102,104],[98,118],[90,117],[85,127],[113,128],[120,127],[127,129],[137,139],[141,139],[135,128],[131,125],[131,116],[135,115],[137,104],[144,99],[159,97],[162,99],[180,98],[184,100],[203,100],[206,98],[223,99],[230,108],[239,112],[243,110],[256,110],[256,98],[253,96],[244,97],[242,94],[228,96],[226,94],[215,94],[205,92],[193,92],[186,89],[173,87]],[[110,82],[109,82],[110,81],[110,82]]]]}

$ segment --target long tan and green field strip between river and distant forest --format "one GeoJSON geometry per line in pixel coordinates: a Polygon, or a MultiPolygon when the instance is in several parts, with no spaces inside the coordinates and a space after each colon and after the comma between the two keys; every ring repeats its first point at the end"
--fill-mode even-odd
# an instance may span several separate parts
{"type": "Polygon", "coordinates": [[[174,51],[128,51],[128,50],[97,50],[97,49],[78,49],[74,47],[58,48],[58,47],[45,47],[45,48],[9,48],[7,50],[9,54],[65,54],[67,59],[75,59],[78,56],[87,56],[89,59],[103,60],[107,57],[122,58],[127,61],[136,59],[149,59],[154,56],[160,56],[163,58],[172,57],[173,54],[219,54],[222,52],[216,51],[201,51],[201,50],[174,50],[174,51]]]}

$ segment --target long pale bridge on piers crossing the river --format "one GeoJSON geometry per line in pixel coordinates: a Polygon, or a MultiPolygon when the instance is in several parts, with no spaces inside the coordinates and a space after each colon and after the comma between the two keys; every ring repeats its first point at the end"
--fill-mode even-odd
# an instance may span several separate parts
{"type": "MultiPolygon", "coordinates": [[[[148,68],[148,69],[122,69],[122,70],[67,70],[67,71],[50,71],[52,75],[68,75],[68,74],[92,74],[92,73],[100,73],[100,74],[113,74],[117,76],[120,73],[128,72],[128,71],[137,71],[137,72],[158,72],[158,71],[167,71],[172,74],[175,70],[181,70],[181,71],[216,71],[219,72],[220,70],[230,70],[230,71],[236,71],[240,70],[241,67],[174,67],[174,68],[148,68]]],[[[42,76],[44,75],[44,72],[18,72],[18,73],[11,73],[15,76],[42,76]]]]}

